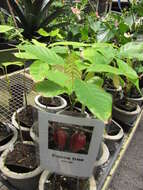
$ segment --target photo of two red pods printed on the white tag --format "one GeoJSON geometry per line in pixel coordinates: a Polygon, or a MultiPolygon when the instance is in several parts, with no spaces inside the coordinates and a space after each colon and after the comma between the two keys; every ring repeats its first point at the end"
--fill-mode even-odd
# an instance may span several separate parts
{"type": "Polygon", "coordinates": [[[48,148],[56,151],[88,154],[93,127],[49,122],[48,148]]]}

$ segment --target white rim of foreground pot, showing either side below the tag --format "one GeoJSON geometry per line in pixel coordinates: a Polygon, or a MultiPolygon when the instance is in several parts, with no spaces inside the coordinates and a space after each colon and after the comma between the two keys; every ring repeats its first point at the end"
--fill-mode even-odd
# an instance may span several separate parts
{"type": "MultiPolygon", "coordinates": [[[[45,170],[41,177],[40,177],[40,181],[39,181],[39,189],[38,190],[45,190],[44,188],[44,184],[46,182],[46,180],[51,176],[51,173],[48,170],[45,170]]],[[[89,179],[89,184],[90,184],[90,189],[89,190],[96,190],[96,182],[95,179],[92,177],[89,179]]]]}

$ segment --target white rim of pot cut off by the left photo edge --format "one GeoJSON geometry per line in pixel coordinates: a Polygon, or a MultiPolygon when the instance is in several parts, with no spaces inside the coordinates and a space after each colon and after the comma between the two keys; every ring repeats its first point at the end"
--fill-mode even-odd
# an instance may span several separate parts
{"type": "Polygon", "coordinates": [[[5,145],[0,146],[0,152],[7,149],[10,145],[14,144],[17,140],[17,136],[18,136],[18,132],[17,130],[14,128],[13,125],[9,124],[9,123],[4,123],[3,124],[7,125],[12,131],[13,131],[13,137],[11,138],[11,140],[9,142],[7,142],[5,145]]]}

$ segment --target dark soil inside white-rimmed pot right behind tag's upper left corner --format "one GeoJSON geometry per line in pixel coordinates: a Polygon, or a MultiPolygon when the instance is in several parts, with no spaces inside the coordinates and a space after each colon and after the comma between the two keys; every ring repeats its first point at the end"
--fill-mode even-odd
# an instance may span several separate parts
{"type": "Polygon", "coordinates": [[[39,102],[46,107],[58,107],[61,106],[61,101],[57,97],[48,98],[48,97],[39,97],[39,102]]]}

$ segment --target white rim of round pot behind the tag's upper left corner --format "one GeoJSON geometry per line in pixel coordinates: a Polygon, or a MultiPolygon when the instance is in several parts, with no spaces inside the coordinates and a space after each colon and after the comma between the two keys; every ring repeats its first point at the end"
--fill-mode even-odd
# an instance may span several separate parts
{"type": "Polygon", "coordinates": [[[55,97],[58,98],[58,99],[60,100],[60,102],[61,102],[61,105],[60,105],[60,106],[56,106],[56,107],[50,107],[50,106],[45,106],[45,105],[41,104],[41,103],[39,102],[39,98],[40,98],[40,97],[41,97],[41,95],[37,95],[37,96],[35,97],[35,104],[36,104],[39,108],[44,109],[44,110],[46,110],[46,111],[48,111],[48,112],[56,113],[56,112],[58,112],[58,111],[64,109],[64,108],[67,106],[67,101],[66,101],[64,98],[62,98],[61,96],[55,96],[55,97]]]}

